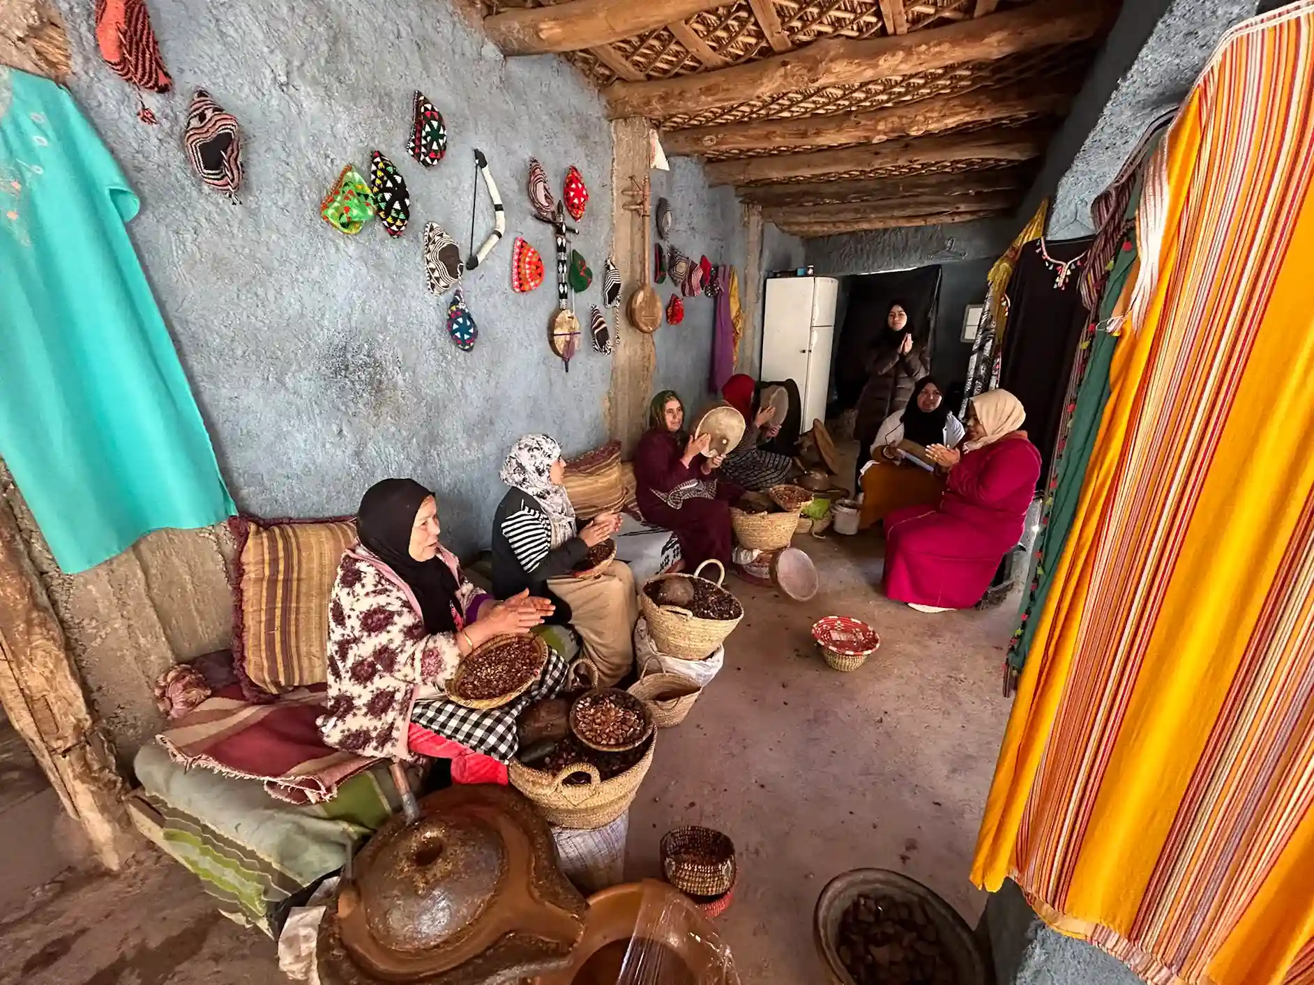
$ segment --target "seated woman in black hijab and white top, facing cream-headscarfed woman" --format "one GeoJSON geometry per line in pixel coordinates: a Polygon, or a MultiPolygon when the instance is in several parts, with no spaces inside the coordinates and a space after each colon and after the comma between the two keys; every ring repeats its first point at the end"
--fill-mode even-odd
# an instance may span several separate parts
{"type": "Polygon", "coordinates": [[[938,502],[945,491],[943,475],[899,450],[904,439],[922,448],[957,448],[963,440],[962,422],[950,412],[940,385],[929,376],[917,381],[907,407],[880,423],[871,443],[871,461],[862,468],[859,527],[870,527],[905,506],[938,502]]]}

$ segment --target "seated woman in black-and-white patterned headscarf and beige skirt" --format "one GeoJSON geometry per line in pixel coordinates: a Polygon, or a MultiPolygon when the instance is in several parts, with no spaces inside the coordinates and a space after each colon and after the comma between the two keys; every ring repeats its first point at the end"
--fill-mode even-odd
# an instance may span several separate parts
{"type": "Polygon", "coordinates": [[[635,662],[635,577],[623,561],[612,561],[597,578],[572,575],[590,548],[620,528],[620,515],[600,514],[578,529],[561,485],[565,468],[561,445],[547,435],[526,435],[511,448],[502,466],[502,481],[511,489],[493,519],[493,592],[506,598],[528,591],[551,602],[552,621],[574,626],[598,668],[598,683],[612,687],[635,662]]]}

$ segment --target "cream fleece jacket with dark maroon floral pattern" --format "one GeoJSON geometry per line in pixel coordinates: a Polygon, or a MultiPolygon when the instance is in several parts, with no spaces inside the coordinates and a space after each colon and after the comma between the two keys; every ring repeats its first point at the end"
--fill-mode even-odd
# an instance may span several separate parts
{"type": "MultiPolygon", "coordinates": [[[[465,580],[451,552],[439,548],[439,557],[456,575],[463,617],[473,623],[490,596],[465,580]]],[[[365,548],[351,548],[328,602],[325,743],[363,756],[411,759],[406,733],[415,690],[444,684],[460,659],[455,633],[424,633],[410,586],[365,548]]]]}

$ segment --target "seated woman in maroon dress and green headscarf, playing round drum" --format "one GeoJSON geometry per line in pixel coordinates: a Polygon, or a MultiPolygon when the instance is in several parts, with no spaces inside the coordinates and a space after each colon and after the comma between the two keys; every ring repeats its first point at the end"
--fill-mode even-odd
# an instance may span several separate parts
{"type": "Polygon", "coordinates": [[[683,431],[685,405],[662,390],[648,410],[648,431],[635,448],[635,483],[644,520],[674,532],[687,570],[708,558],[731,561],[731,503],[744,490],[712,473],[723,457],[708,457],[711,436],[683,431]]]}

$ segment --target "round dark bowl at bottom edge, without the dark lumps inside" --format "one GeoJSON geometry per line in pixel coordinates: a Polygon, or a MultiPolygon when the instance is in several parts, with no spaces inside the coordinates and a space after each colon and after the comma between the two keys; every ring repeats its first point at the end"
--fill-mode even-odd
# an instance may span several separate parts
{"type": "Polygon", "coordinates": [[[883,868],[855,868],[829,883],[812,911],[812,935],[832,985],[857,985],[840,960],[836,936],[849,905],[863,893],[891,896],[899,902],[920,904],[938,934],[955,985],[986,985],[986,960],[967,922],[930,889],[915,879],[883,868]]]}

